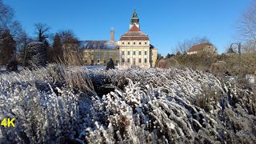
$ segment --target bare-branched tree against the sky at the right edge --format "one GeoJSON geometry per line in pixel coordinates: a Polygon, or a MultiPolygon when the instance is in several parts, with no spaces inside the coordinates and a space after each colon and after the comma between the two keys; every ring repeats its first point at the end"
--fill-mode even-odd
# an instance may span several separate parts
{"type": "Polygon", "coordinates": [[[245,52],[256,51],[256,0],[253,0],[250,7],[242,14],[238,21],[238,34],[242,41],[246,42],[243,46],[245,52]]]}

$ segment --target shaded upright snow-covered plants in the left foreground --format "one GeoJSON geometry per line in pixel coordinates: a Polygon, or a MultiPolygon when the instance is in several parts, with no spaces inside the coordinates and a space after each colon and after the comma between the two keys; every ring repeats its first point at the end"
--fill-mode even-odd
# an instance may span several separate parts
{"type": "Polygon", "coordinates": [[[15,127],[1,127],[2,142],[65,143],[78,135],[80,94],[55,86],[50,71],[0,75],[0,119],[15,118],[15,127]]]}

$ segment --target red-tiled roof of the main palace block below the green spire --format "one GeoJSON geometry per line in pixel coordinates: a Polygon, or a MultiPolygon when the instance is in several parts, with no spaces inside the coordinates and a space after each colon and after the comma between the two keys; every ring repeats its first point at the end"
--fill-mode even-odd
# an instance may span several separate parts
{"type": "Polygon", "coordinates": [[[120,41],[133,41],[133,40],[150,40],[150,38],[144,34],[141,30],[139,30],[139,28],[136,26],[136,24],[134,24],[134,26],[132,26],[130,28],[130,30],[128,30],[126,32],[126,34],[123,34],[122,37],[120,38],[120,41]]]}

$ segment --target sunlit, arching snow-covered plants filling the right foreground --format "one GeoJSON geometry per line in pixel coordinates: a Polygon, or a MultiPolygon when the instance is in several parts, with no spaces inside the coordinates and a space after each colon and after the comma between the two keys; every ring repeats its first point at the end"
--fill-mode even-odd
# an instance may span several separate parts
{"type": "Polygon", "coordinates": [[[238,91],[243,93],[242,98],[251,99],[252,93],[239,89],[235,83],[222,83],[211,74],[190,69],[89,73],[109,76],[116,90],[94,102],[90,112],[94,114],[94,125],[85,130],[87,142],[255,142],[255,114],[246,112],[245,102],[234,99],[238,91]],[[118,83],[126,81],[124,90],[120,90],[118,83]],[[212,91],[206,99],[207,106],[196,106],[196,96],[207,97],[207,89],[212,91]],[[246,117],[237,114],[236,105],[242,107],[246,117]],[[227,120],[232,117],[223,111],[229,108],[236,118],[246,120],[227,120]],[[243,123],[244,130],[227,127],[237,126],[238,122],[243,123]]]}

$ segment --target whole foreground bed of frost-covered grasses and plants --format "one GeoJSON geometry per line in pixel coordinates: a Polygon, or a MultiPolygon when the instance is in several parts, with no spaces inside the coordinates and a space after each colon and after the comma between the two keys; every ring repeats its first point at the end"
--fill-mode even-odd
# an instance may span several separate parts
{"type": "Polygon", "coordinates": [[[0,94],[1,142],[256,142],[252,91],[198,70],[48,66],[0,75],[0,94]]]}

